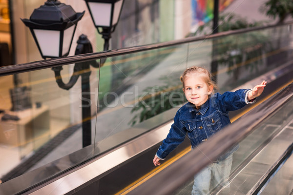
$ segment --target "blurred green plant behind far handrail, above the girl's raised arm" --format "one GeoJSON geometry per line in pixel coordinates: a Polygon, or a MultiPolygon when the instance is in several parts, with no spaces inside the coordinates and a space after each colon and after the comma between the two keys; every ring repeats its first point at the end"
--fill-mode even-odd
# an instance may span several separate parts
{"type": "MultiPolygon", "coordinates": [[[[219,32],[224,32],[262,26],[265,23],[266,21],[248,22],[245,18],[227,13],[219,16],[218,29],[219,32]]],[[[209,34],[211,28],[212,21],[209,21],[195,35],[209,34]]],[[[239,78],[240,67],[245,66],[251,71],[257,69],[257,65],[261,64],[262,54],[271,48],[269,38],[259,31],[213,39],[213,55],[219,65],[228,66],[228,74],[233,74],[234,81],[239,78]]]]}

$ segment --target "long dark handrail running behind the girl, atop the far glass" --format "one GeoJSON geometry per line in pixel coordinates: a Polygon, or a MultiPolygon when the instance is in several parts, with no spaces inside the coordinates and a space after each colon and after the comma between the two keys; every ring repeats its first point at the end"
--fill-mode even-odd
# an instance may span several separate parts
{"type": "Polygon", "coordinates": [[[240,34],[240,33],[263,30],[266,28],[275,28],[275,27],[279,27],[279,26],[283,26],[283,25],[291,25],[291,24],[293,24],[293,21],[286,22],[284,24],[252,27],[252,28],[246,28],[246,29],[240,29],[240,30],[230,30],[230,31],[225,31],[225,32],[213,34],[213,35],[189,37],[186,39],[171,40],[171,41],[154,43],[154,44],[149,44],[149,45],[128,47],[128,48],[122,48],[122,49],[114,49],[114,50],[109,50],[109,51],[105,51],[105,52],[81,54],[81,55],[75,55],[75,56],[69,56],[69,57],[63,57],[63,58],[46,59],[46,60],[34,61],[34,62],[30,62],[30,63],[9,65],[9,66],[0,67],[0,76],[18,74],[18,73],[22,73],[22,72],[29,72],[29,71],[35,71],[35,70],[41,70],[41,69],[52,68],[52,67],[57,67],[57,66],[67,65],[67,64],[72,64],[72,63],[80,63],[80,62],[89,61],[89,60],[110,58],[110,57],[119,56],[119,55],[131,54],[131,53],[142,52],[142,51],[153,50],[153,49],[159,49],[159,48],[163,48],[163,47],[180,45],[183,43],[189,43],[189,42],[200,41],[200,40],[205,40],[205,39],[220,38],[220,37],[224,37],[224,36],[236,35],[236,34],[240,34]]]}

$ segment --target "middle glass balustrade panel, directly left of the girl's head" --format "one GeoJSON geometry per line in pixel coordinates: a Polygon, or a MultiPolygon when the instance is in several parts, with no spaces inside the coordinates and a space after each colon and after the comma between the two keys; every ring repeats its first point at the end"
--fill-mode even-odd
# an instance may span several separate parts
{"type": "Polygon", "coordinates": [[[188,44],[108,58],[100,72],[95,155],[172,119],[186,101],[188,44]],[[175,109],[173,109],[175,108],[175,109]]]}

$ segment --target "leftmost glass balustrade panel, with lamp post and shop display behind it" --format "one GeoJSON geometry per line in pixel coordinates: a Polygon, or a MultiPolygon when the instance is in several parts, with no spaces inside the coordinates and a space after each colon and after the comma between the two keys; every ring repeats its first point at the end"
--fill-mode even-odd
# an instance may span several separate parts
{"type": "Polygon", "coordinates": [[[56,78],[51,68],[0,77],[2,182],[31,172],[39,176],[28,181],[34,185],[93,156],[96,107],[89,95],[98,88],[99,69],[74,66],[64,65],[56,78]]]}

